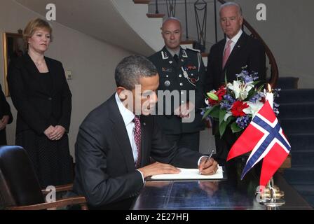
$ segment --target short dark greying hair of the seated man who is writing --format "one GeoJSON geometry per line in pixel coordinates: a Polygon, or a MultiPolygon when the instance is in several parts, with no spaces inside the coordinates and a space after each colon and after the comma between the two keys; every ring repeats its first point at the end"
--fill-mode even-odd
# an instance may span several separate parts
{"type": "Polygon", "coordinates": [[[116,66],[114,78],[117,87],[133,90],[135,85],[139,84],[139,78],[156,76],[156,74],[156,66],[149,59],[140,55],[131,55],[123,58],[116,66]]]}

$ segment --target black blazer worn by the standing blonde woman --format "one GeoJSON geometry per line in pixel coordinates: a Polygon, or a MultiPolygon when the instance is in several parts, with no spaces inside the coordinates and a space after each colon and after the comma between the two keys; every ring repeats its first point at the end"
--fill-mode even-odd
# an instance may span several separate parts
{"type": "Polygon", "coordinates": [[[41,75],[28,54],[13,60],[8,66],[8,87],[18,111],[16,132],[34,130],[37,134],[50,125],[62,125],[69,130],[71,92],[61,62],[45,57],[52,90],[39,83],[41,75]]]}

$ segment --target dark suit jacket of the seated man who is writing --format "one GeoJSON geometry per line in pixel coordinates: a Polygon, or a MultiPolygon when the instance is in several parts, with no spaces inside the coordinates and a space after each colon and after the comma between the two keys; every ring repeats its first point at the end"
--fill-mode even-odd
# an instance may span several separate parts
{"type": "MultiPolygon", "coordinates": [[[[177,167],[197,167],[201,155],[187,148],[170,146],[155,116],[141,116],[141,127],[141,167],[149,165],[150,156],[177,167]]],[[[143,181],[135,170],[128,132],[114,95],[83,121],[75,153],[74,192],[85,195],[93,207],[129,209],[143,181]]]]}

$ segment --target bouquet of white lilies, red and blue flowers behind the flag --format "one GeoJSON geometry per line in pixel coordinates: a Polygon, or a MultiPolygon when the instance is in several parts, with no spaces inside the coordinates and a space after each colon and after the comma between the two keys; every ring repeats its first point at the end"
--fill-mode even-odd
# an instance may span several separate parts
{"type": "MultiPolygon", "coordinates": [[[[233,133],[241,132],[250,124],[252,118],[266,102],[269,96],[264,85],[259,85],[258,73],[249,73],[243,68],[237,74],[233,83],[225,81],[218,90],[207,92],[203,109],[203,119],[212,118],[219,121],[219,134],[222,136],[230,125],[233,133]]],[[[271,94],[273,97],[273,94],[271,94]]],[[[275,97],[279,96],[277,90],[275,97]]],[[[273,100],[271,100],[272,102],[273,100]]],[[[273,110],[278,115],[278,104],[273,104],[273,110]]]]}

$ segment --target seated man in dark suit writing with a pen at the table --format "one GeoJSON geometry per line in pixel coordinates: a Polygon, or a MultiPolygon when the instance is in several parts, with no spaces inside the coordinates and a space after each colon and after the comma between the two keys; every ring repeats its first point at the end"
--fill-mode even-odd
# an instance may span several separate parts
{"type": "Polygon", "coordinates": [[[91,208],[129,209],[146,177],[176,174],[176,167],[217,171],[198,152],[177,148],[165,139],[151,112],[157,101],[159,76],[145,57],[123,59],[115,71],[116,93],[90,112],[76,140],[74,192],[91,208]],[[156,160],[150,164],[150,157],[156,160]]]}

